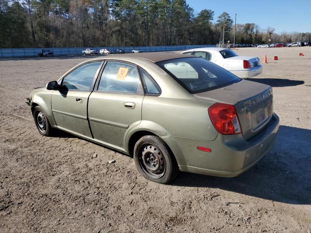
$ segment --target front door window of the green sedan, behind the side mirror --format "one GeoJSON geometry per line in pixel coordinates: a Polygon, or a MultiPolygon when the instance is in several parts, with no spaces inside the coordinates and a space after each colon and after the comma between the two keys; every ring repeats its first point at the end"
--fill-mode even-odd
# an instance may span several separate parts
{"type": "Polygon", "coordinates": [[[102,62],[92,62],[76,68],[64,79],[62,86],[68,90],[89,90],[102,62]]]}

